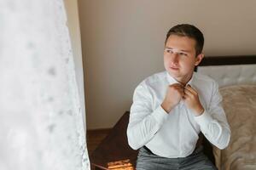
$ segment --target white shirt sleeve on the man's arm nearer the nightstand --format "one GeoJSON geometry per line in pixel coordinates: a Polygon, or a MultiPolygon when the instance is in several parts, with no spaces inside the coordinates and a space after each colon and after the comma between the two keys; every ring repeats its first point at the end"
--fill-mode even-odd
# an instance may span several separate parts
{"type": "Polygon", "coordinates": [[[152,110],[152,99],[143,83],[135,89],[127,127],[128,144],[134,150],[147,144],[167,119],[168,114],[161,106],[152,110]]]}

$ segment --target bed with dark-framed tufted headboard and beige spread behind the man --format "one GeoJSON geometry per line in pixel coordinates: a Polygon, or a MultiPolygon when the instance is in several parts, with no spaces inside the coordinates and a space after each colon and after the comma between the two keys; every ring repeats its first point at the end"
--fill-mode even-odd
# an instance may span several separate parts
{"type": "Polygon", "coordinates": [[[207,57],[196,71],[218,82],[231,130],[224,150],[206,142],[207,155],[219,170],[256,169],[256,56],[207,57]]]}

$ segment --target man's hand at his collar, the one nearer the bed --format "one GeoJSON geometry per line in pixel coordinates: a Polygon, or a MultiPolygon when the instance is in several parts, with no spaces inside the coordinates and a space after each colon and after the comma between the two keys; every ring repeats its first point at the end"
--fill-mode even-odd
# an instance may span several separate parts
{"type": "Polygon", "coordinates": [[[190,85],[184,87],[183,100],[185,105],[187,105],[189,109],[195,112],[195,116],[201,116],[201,114],[205,111],[200,103],[197,92],[194,88],[191,88],[190,85]]]}

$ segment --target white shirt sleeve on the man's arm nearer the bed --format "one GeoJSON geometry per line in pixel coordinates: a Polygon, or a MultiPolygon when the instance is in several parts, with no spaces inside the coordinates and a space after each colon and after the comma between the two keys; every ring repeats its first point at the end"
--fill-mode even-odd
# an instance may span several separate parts
{"type": "Polygon", "coordinates": [[[201,116],[195,116],[195,122],[201,127],[205,137],[220,150],[230,143],[230,126],[221,105],[222,96],[218,92],[217,82],[212,86],[210,105],[201,116]]]}

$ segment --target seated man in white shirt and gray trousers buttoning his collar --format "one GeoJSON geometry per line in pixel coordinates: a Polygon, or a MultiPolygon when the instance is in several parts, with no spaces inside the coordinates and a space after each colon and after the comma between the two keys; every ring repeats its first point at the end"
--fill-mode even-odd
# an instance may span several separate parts
{"type": "Polygon", "coordinates": [[[166,71],[137,86],[127,128],[131,148],[140,149],[137,170],[216,169],[196,145],[198,134],[224,149],[230,127],[217,82],[194,72],[204,57],[203,44],[195,26],[172,27],[165,42],[166,71]]]}

